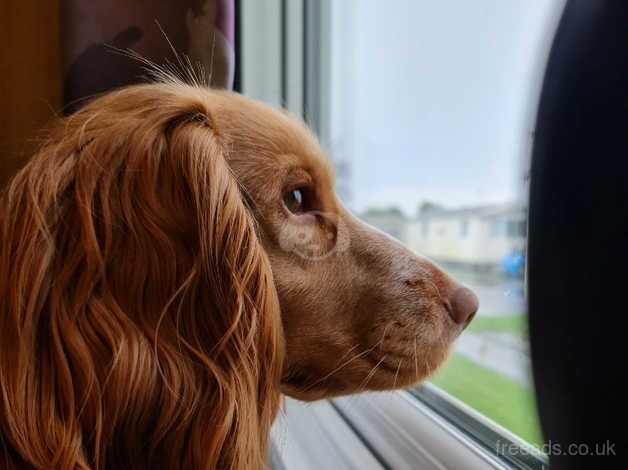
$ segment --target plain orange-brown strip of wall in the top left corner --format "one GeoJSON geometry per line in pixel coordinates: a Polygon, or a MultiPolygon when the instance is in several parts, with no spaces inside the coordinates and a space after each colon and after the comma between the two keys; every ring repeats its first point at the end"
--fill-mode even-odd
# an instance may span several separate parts
{"type": "Polygon", "coordinates": [[[0,187],[61,108],[59,2],[0,2],[0,187]]]}

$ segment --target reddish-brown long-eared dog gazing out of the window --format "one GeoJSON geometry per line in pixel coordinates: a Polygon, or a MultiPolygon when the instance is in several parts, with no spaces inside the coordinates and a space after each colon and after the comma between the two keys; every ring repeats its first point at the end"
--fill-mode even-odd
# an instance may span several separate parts
{"type": "Polygon", "coordinates": [[[282,394],[416,384],[478,309],[285,112],[173,81],[46,135],[0,199],[6,468],[261,468],[282,394]]]}

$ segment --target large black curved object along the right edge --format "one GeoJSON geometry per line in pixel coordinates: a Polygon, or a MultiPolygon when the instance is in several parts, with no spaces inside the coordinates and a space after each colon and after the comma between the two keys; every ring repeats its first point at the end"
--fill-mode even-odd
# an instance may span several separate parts
{"type": "Polygon", "coordinates": [[[628,468],[628,1],[563,13],[537,118],[528,276],[550,467],[628,468]]]}

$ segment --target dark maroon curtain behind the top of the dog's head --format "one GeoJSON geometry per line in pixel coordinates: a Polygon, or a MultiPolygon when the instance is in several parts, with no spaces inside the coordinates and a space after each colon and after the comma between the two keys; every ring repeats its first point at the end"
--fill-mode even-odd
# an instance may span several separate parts
{"type": "Polygon", "coordinates": [[[210,74],[213,87],[231,89],[234,9],[234,0],[65,0],[64,112],[96,94],[147,81],[146,65],[125,51],[179,71],[177,55],[187,56],[210,74]]]}

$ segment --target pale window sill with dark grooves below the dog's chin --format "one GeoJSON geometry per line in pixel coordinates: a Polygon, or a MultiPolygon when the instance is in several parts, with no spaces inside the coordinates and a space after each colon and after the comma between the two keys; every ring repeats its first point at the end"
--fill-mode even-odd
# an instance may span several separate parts
{"type": "Polygon", "coordinates": [[[431,385],[312,404],[287,399],[272,446],[275,469],[547,468],[527,443],[431,385]],[[452,419],[453,409],[465,425],[452,419]],[[497,455],[479,440],[487,429],[519,452],[497,455]]]}

